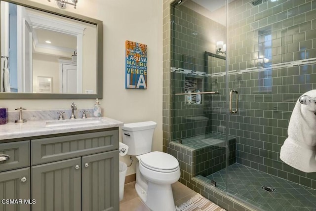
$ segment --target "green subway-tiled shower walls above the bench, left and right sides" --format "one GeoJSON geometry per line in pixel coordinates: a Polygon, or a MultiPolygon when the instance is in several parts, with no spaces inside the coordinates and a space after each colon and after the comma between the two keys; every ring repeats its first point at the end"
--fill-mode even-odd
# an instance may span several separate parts
{"type": "MultiPolygon", "coordinates": [[[[236,0],[229,6],[229,71],[269,67],[316,57],[316,0],[268,1],[255,7],[249,2],[250,0],[236,0]],[[262,40],[264,36],[268,36],[266,40],[262,40]],[[271,47],[265,46],[268,42],[271,42],[271,47]],[[259,58],[268,48],[271,54],[259,58]]],[[[175,26],[180,31],[171,36],[171,43],[176,41],[171,46],[171,66],[183,68],[183,57],[180,55],[186,54],[195,57],[196,65],[192,67],[194,70],[207,71],[210,74],[225,72],[224,60],[215,63],[209,61],[208,66],[212,68],[205,69],[203,66],[204,52],[213,50],[211,47],[207,48],[210,45],[206,42],[209,41],[203,40],[206,35],[197,39],[191,35],[192,30],[178,26],[182,23],[180,17],[185,17],[183,23],[195,20],[191,28],[202,29],[201,32],[214,30],[213,33],[216,31],[225,35],[225,28],[185,6],[179,6],[175,10],[175,26]],[[195,24],[200,24],[200,28],[195,27],[195,24]],[[184,39],[185,42],[180,42],[183,30],[188,33],[188,37],[184,39]],[[198,46],[199,43],[201,46],[198,46]]],[[[171,73],[172,93],[183,91],[184,76],[185,74],[171,73]]],[[[183,99],[173,97],[171,140],[198,135],[203,131],[225,132],[225,77],[202,77],[205,90],[216,89],[221,93],[204,95],[202,105],[186,107],[183,96],[183,99]],[[210,121],[206,130],[195,129],[192,124],[180,126],[186,124],[181,122],[184,117],[182,114],[201,115],[210,121]]],[[[287,137],[288,122],[297,98],[316,88],[316,65],[274,67],[231,74],[229,87],[239,93],[239,111],[236,115],[229,115],[228,131],[237,140],[237,162],[315,188],[316,175],[287,166],[280,161],[279,151],[287,137]]]]}

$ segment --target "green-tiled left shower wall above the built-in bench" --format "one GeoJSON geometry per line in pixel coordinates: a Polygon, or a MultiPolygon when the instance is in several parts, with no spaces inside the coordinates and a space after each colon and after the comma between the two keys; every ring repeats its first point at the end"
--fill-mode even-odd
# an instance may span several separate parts
{"type": "MultiPolygon", "coordinates": [[[[171,33],[171,66],[192,71],[205,72],[205,51],[214,51],[206,38],[220,37],[225,39],[225,27],[184,5],[172,8],[171,33]]],[[[215,45],[214,45],[215,46],[215,45]]],[[[208,59],[209,65],[218,72],[224,70],[220,67],[225,64],[223,59],[208,59]]],[[[208,71],[211,71],[209,69],[208,71]]],[[[211,72],[208,72],[211,73],[211,72]]],[[[200,91],[209,91],[215,82],[209,77],[194,74],[171,73],[171,91],[184,93],[186,91],[186,78],[196,78],[203,84],[200,91]]],[[[212,97],[202,95],[201,104],[186,104],[186,96],[172,96],[171,102],[171,140],[192,137],[212,132],[212,97]],[[193,121],[190,117],[202,116],[208,121],[193,121]]],[[[195,99],[193,97],[193,99],[195,99]]]]}

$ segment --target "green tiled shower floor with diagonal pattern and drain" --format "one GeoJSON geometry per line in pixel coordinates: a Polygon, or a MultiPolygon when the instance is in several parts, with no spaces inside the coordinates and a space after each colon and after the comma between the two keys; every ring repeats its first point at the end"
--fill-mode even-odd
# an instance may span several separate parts
{"type": "MultiPolygon", "coordinates": [[[[316,190],[240,164],[228,168],[228,193],[264,211],[316,211],[316,190]],[[269,192],[268,186],[276,189],[269,192]]],[[[225,190],[225,169],[206,177],[225,190]]]]}

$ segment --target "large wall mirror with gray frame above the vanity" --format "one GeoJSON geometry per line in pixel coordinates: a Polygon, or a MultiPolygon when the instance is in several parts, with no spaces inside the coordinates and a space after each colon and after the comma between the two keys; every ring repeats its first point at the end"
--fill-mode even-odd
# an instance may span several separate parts
{"type": "Polygon", "coordinates": [[[102,21],[1,0],[0,99],[102,98],[102,21]]]}

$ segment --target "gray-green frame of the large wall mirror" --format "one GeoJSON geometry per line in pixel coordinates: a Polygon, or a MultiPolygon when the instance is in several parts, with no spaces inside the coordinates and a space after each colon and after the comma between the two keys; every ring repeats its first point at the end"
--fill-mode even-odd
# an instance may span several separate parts
{"type": "MultiPolygon", "coordinates": [[[[86,16],[82,16],[73,12],[68,12],[59,8],[54,8],[51,6],[47,6],[44,4],[40,4],[30,0],[2,0],[9,3],[15,3],[21,6],[29,7],[32,9],[37,9],[43,12],[48,12],[51,14],[59,15],[62,17],[67,17],[70,19],[82,21],[85,23],[90,23],[96,25],[97,30],[97,81],[96,81],[96,94],[84,94],[84,93],[12,93],[12,92],[0,92],[0,99],[102,99],[102,71],[103,71],[103,63],[102,63],[102,21],[89,18],[86,16]]],[[[1,4],[0,4],[1,9],[1,4]]],[[[1,28],[1,21],[0,21],[1,28]]],[[[1,32],[0,32],[1,35],[1,32]]],[[[1,49],[1,42],[0,42],[1,49]]],[[[1,80],[1,76],[0,76],[1,80]]]]}

